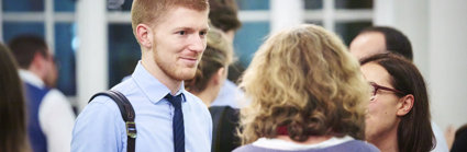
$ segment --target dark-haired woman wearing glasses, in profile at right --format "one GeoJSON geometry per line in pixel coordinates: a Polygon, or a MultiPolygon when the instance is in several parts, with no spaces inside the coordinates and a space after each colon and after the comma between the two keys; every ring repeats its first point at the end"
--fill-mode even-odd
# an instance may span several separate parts
{"type": "Polygon", "coordinates": [[[427,152],[434,148],[425,82],[416,67],[394,54],[360,61],[373,86],[366,140],[382,152],[427,152]]]}

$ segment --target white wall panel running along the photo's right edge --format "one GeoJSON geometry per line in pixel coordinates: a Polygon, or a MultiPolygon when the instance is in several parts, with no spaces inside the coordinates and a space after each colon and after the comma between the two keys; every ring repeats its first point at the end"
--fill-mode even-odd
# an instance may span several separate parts
{"type": "Polygon", "coordinates": [[[445,128],[467,124],[467,1],[430,1],[433,118],[445,128]]]}

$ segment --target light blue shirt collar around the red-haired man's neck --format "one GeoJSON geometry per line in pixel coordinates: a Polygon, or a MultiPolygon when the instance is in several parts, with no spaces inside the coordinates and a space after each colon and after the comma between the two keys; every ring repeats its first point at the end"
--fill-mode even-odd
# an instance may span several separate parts
{"type": "MultiPolygon", "coordinates": [[[[154,75],[152,75],[141,63],[141,60],[137,62],[137,66],[132,74],[132,79],[140,86],[143,94],[145,94],[153,104],[162,101],[170,90],[160,83],[154,75]]],[[[175,95],[179,95],[182,93],[184,101],[187,101],[185,97],[186,90],[184,82],[180,83],[180,89],[177,91],[175,95]]]]}

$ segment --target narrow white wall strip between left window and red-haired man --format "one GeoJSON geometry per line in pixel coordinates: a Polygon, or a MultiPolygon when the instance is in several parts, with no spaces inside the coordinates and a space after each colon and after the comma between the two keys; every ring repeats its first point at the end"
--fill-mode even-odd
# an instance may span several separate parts
{"type": "Polygon", "coordinates": [[[108,87],[107,1],[79,0],[77,23],[79,48],[77,65],[77,103],[82,109],[92,94],[108,87]]]}

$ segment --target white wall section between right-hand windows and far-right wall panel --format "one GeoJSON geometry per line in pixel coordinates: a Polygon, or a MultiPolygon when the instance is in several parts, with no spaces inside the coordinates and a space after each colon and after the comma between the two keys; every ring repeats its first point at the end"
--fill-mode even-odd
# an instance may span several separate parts
{"type": "Polygon", "coordinates": [[[426,0],[375,0],[375,25],[400,30],[412,43],[413,61],[425,79],[429,68],[429,8],[426,0]]]}

